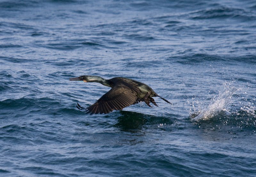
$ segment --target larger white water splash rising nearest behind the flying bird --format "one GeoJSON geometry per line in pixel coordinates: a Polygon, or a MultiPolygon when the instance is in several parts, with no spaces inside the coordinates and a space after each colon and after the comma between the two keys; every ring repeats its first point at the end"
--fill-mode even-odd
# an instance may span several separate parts
{"type": "Polygon", "coordinates": [[[194,103],[192,104],[194,108],[194,113],[190,114],[190,117],[193,118],[194,121],[199,120],[208,120],[217,115],[227,115],[231,114],[228,111],[228,105],[232,101],[232,95],[239,89],[232,86],[230,83],[225,83],[224,89],[219,92],[219,95],[212,99],[212,103],[204,109],[200,109],[195,111],[194,103]]]}

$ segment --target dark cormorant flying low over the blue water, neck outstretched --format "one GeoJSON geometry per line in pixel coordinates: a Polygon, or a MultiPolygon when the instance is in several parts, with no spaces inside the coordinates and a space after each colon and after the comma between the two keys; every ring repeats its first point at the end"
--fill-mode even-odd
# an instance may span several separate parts
{"type": "MultiPolygon", "coordinates": [[[[84,81],[84,82],[98,82],[102,85],[111,87],[107,93],[105,93],[96,103],[84,108],[77,103],[77,108],[80,110],[85,109],[87,113],[91,114],[107,114],[113,110],[122,110],[124,107],[136,104],[140,101],[145,101],[149,106],[149,103],[153,103],[157,106],[155,100],[152,97],[160,97],[165,100],[156,92],[153,91],[148,85],[132,80],[125,77],[114,77],[112,79],[104,79],[99,76],[80,76],[70,78],[71,81],[84,81]]],[[[172,104],[172,103],[170,103],[172,104]]],[[[158,106],[157,106],[158,107],[158,106]]]]}

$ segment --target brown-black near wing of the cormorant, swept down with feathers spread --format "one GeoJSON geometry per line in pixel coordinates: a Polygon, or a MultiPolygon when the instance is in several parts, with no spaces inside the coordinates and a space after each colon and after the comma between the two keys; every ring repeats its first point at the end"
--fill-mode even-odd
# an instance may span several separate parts
{"type": "Polygon", "coordinates": [[[87,113],[107,114],[113,110],[122,110],[136,102],[137,94],[124,84],[118,84],[104,94],[96,103],[87,107],[87,113]]]}

